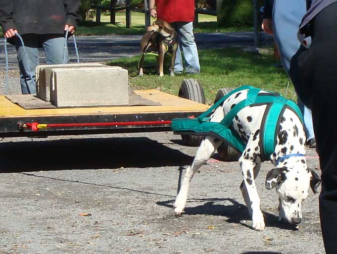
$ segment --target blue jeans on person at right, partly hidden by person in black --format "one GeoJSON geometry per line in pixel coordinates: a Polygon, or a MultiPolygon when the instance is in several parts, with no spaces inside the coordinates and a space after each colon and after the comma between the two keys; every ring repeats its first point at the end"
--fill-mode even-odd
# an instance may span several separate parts
{"type": "MultiPolygon", "coordinates": [[[[285,66],[289,78],[297,91],[301,87],[300,74],[297,71],[290,70],[290,61],[301,45],[297,39],[297,31],[305,12],[306,0],[274,1],[273,30],[275,42],[280,51],[283,66],[285,66]]],[[[308,141],[315,137],[311,110],[300,99],[298,99],[297,104],[303,114],[305,134],[308,141]]]]}

